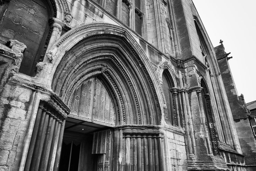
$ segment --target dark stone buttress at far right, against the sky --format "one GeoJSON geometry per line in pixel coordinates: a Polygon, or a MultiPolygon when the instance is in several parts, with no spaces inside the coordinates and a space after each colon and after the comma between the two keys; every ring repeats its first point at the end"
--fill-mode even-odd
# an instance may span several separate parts
{"type": "Polygon", "coordinates": [[[248,170],[254,170],[256,161],[256,141],[249,122],[250,113],[246,107],[243,95],[238,96],[236,85],[229,67],[228,60],[232,57],[228,57],[229,54],[225,52],[222,42],[221,45],[214,49],[216,51],[218,65],[228,96],[233,119],[235,121],[241,149],[243,155],[245,155],[244,162],[248,165],[248,170]]]}

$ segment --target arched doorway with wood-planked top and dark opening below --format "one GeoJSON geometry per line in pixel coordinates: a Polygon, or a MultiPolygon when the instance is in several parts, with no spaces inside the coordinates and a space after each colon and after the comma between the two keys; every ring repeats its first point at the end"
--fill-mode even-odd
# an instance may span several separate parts
{"type": "Polygon", "coordinates": [[[111,157],[115,108],[104,80],[86,79],[70,95],[59,170],[104,170],[111,157]]]}

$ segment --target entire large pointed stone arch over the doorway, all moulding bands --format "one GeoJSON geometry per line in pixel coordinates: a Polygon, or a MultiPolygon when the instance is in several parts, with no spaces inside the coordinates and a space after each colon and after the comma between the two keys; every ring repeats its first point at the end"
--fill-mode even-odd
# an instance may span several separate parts
{"type": "Polygon", "coordinates": [[[125,29],[103,23],[80,26],[58,39],[47,55],[53,58],[52,65],[44,65],[40,74],[55,73],[52,89],[64,101],[85,78],[100,75],[117,98],[117,124],[159,124],[161,85],[143,50],[125,29]]]}

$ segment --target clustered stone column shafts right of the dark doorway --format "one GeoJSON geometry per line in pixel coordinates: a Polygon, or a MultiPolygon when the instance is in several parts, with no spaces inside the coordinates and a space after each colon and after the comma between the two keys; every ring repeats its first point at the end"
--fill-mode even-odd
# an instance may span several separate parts
{"type": "Polygon", "coordinates": [[[163,171],[164,159],[160,134],[125,133],[126,171],[163,171]]]}

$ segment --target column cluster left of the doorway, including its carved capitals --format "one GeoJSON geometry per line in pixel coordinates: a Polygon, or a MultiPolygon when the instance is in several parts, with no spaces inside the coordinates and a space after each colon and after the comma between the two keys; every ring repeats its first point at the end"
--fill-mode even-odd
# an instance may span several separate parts
{"type": "MultiPolygon", "coordinates": [[[[23,170],[57,170],[60,159],[64,123],[70,109],[52,94],[40,101],[23,170]],[[63,122],[62,122],[63,121],[63,122]]],[[[24,160],[22,160],[24,161],[24,160]]]]}

